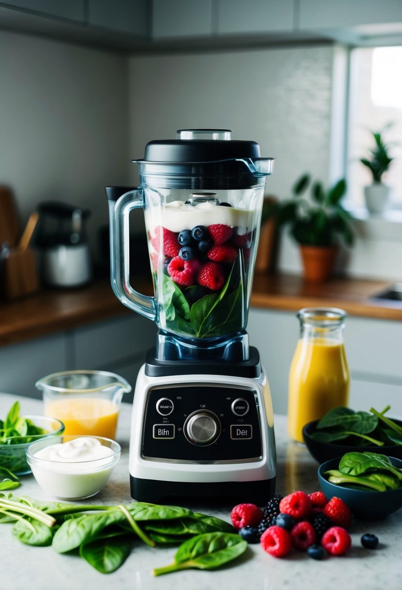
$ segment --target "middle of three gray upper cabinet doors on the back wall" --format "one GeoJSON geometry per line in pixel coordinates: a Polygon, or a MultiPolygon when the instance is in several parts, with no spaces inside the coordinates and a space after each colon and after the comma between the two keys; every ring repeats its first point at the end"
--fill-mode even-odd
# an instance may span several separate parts
{"type": "Polygon", "coordinates": [[[292,31],[294,0],[219,0],[219,34],[292,31]]]}

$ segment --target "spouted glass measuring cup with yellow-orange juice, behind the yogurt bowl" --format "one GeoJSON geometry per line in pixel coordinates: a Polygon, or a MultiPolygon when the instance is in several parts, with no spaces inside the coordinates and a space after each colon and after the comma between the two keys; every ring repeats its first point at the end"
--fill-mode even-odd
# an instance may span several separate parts
{"type": "Polygon", "coordinates": [[[44,414],[60,419],[64,434],[116,437],[118,412],[130,384],[107,371],[62,371],[39,379],[44,414]]]}

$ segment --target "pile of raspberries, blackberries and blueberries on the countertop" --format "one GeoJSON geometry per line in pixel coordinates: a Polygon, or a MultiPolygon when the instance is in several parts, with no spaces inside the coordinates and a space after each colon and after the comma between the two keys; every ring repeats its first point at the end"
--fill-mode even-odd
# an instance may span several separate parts
{"type": "MultiPolygon", "coordinates": [[[[278,558],[294,548],[307,551],[312,559],[322,559],[325,553],[343,555],[351,546],[347,530],[352,522],[351,510],[340,498],[327,501],[322,491],[276,495],[264,510],[255,504],[238,504],[230,517],[243,539],[261,543],[267,553],[278,558]]],[[[378,538],[367,533],[361,543],[375,549],[378,538]]]]}

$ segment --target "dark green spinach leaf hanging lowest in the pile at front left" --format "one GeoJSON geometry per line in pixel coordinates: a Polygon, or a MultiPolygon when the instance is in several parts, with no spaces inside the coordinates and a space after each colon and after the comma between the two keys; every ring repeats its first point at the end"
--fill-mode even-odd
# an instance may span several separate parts
{"type": "Polygon", "coordinates": [[[80,556],[100,573],[111,573],[123,565],[131,552],[130,540],[106,536],[80,546],[80,556]]]}

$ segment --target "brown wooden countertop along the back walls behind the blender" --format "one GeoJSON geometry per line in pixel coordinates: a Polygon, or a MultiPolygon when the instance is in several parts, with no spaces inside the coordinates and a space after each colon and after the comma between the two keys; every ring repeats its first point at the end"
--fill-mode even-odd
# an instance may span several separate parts
{"type": "MultiPolygon", "coordinates": [[[[147,277],[131,281],[140,293],[153,294],[147,277]]],[[[351,316],[402,321],[402,302],[372,299],[390,282],[333,278],[306,283],[286,274],[255,274],[252,307],[296,311],[302,307],[342,307],[351,316]]],[[[24,299],[0,303],[0,347],[108,317],[133,313],[118,301],[108,278],[81,289],[43,289],[24,299]]]]}

